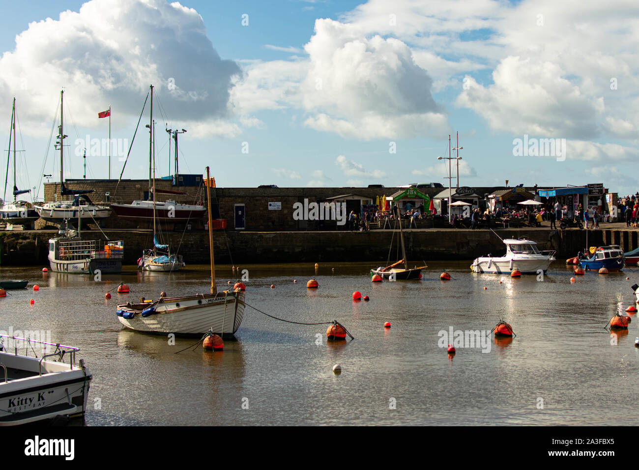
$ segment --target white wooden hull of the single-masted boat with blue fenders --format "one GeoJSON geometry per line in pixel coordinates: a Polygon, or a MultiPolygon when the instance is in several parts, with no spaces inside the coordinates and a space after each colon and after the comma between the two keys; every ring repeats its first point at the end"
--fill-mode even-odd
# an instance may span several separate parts
{"type": "Polygon", "coordinates": [[[240,327],[245,308],[243,292],[172,297],[158,302],[154,302],[156,312],[148,317],[142,317],[142,311],[153,304],[119,305],[118,320],[128,329],[144,333],[202,335],[212,330],[229,338],[240,327]],[[134,315],[125,318],[123,313],[134,315]]]}

